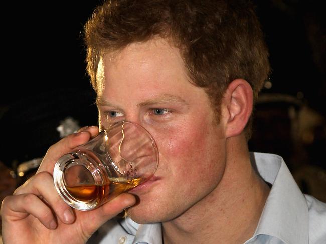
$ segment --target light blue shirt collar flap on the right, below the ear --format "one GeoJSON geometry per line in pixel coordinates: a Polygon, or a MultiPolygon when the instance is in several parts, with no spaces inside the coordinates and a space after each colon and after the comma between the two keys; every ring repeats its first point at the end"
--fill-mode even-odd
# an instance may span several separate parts
{"type": "Polygon", "coordinates": [[[308,207],[285,162],[265,153],[254,153],[252,159],[261,177],[272,184],[253,238],[269,235],[285,243],[308,243],[308,207]]]}

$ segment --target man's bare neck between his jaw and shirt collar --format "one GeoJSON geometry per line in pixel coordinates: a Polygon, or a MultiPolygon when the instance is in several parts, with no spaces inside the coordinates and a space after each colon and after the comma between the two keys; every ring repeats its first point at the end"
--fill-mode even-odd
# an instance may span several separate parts
{"type": "Polygon", "coordinates": [[[254,234],[269,187],[252,168],[246,146],[233,146],[228,155],[232,156],[219,185],[182,215],[162,224],[165,244],[244,243],[254,234]]]}

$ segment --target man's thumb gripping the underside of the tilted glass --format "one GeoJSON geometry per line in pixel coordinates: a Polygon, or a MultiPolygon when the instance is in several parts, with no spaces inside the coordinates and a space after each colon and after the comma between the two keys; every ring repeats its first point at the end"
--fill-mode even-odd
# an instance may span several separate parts
{"type": "Polygon", "coordinates": [[[122,193],[104,205],[89,211],[89,214],[87,214],[88,219],[85,219],[82,223],[84,225],[82,226],[84,233],[89,233],[91,236],[105,222],[111,218],[114,218],[124,209],[133,206],[135,203],[136,198],[134,195],[129,193],[122,193]]]}

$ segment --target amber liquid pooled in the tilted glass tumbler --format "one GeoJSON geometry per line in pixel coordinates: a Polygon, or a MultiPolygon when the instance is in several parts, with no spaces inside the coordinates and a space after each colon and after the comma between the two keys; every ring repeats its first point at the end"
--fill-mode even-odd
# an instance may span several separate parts
{"type": "Polygon", "coordinates": [[[112,179],[108,184],[103,185],[78,185],[66,186],[71,196],[83,202],[91,202],[96,200],[98,205],[118,196],[119,194],[131,190],[140,184],[142,179],[121,180],[119,178],[112,179]]]}

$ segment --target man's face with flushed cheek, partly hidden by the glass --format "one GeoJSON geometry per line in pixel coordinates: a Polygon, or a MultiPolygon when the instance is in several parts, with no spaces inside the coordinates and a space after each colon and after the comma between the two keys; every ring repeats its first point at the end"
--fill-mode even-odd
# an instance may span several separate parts
{"type": "Polygon", "coordinates": [[[97,81],[100,126],[138,123],[159,151],[152,180],[130,192],[139,203],[129,216],[163,222],[198,205],[224,173],[224,126],[205,91],[190,83],[179,49],[165,39],[131,44],[102,57],[97,81]]]}

